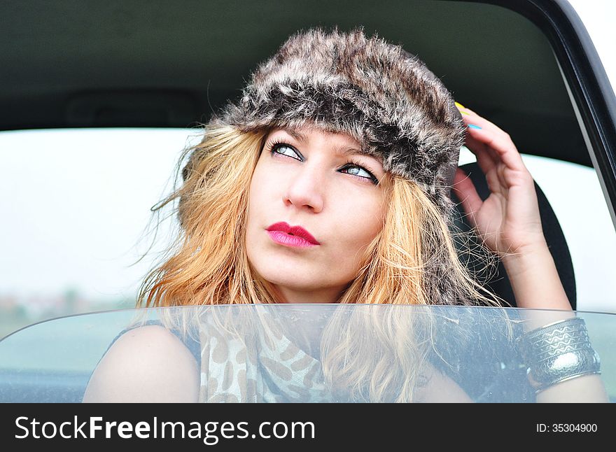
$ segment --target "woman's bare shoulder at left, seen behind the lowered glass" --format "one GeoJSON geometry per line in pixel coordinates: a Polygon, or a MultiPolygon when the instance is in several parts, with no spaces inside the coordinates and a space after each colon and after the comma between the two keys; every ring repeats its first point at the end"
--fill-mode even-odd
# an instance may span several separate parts
{"type": "Polygon", "coordinates": [[[193,354],[159,325],[122,334],[94,369],[83,402],[195,402],[199,369],[193,354]]]}

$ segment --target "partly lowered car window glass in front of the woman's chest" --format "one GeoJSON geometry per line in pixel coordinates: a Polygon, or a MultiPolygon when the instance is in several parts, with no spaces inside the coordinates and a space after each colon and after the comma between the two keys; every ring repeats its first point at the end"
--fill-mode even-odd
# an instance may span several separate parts
{"type": "MultiPolygon", "coordinates": [[[[130,331],[125,337],[135,337],[135,332],[145,331],[141,327],[149,332],[154,327],[155,334],[172,332],[186,346],[186,353],[194,355],[197,368],[207,372],[207,379],[195,381],[203,402],[363,401],[362,397],[370,395],[358,393],[350,382],[366,374],[348,372],[363,365],[372,371],[368,378],[380,370],[389,374],[386,381],[393,385],[418,381],[414,397],[419,400],[429,392],[440,400],[459,401],[462,389],[464,397],[475,402],[535,402],[540,400],[535,400],[528,383],[519,338],[524,323],[551,323],[562,320],[562,315],[559,311],[477,306],[260,304],[71,316],[32,325],[0,341],[0,402],[80,402],[88,381],[96,379],[92,372],[99,363],[104,365],[102,358],[110,347],[122,347],[123,334],[130,331]],[[344,337],[351,338],[353,347],[340,354],[337,346],[344,337]],[[405,353],[399,355],[391,341],[404,341],[405,353]],[[409,361],[401,365],[401,360],[409,361]],[[331,380],[335,390],[316,370],[322,362],[328,362],[323,366],[325,374],[346,377],[331,380]],[[246,379],[236,379],[235,374],[242,372],[246,379]],[[446,378],[434,378],[438,375],[446,378]],[[267,384],[262,384],[264,380],[267,384]],[[447,383],[451,381],[456,385],[447,383]]],[[[611,352],[616,316],[578,311],[577,318],[584,320],[601,360],[601,382],[610,400],[615,400],[616,357],[611,352]]],[[[149,342],[142,348],[131,344],[130,353],[143,351],[171,367],[178,360],[179,353],[152,350],[149,342]]],[[[138,374],[144,377],[143,372],[138,374]]],[[[123,381],[130,375],[127,369],[123,381]]],[[[379,400],[394,402],[399,394],[383,390],[379,400]]],[[[572,395],[566,392],[559,397],[572,395]]],[[[579,396],[588,397],[588,393],[579,396]]]]}

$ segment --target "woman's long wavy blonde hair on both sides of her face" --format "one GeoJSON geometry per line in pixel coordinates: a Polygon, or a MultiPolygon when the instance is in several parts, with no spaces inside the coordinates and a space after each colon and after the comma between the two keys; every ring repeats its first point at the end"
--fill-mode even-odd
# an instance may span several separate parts
{"type": "MultiPolygon", "coordinates": [[[[251,267],[245,246],[248,191],[267,132],[210,123],[202,141],[185,151],[176,188],[153,208],[172,205],[180,234],[144,279],[137,306],[283,302],[251,267]]],[[[498,306],[498,297],[461,263],[451,223],[428,195],[405,178],[386,174],[384,179],[383,228],[338,303],[498,306]],[[433,272],[440,276],[438,285],[426,284],[434,281],[428,278],[433,272]],[[455,299],[442,299],[442,287],[449,293],[454,288],[455,299]]],[[[433,322],[419,325],[400,312],[383,316],[358,310],[332,318],[321,344],[325,380],[346,388],[351,400],[411,401],[421,381],[417,362],[427,353],[418,338],[433,331],[433,322]],[[341,340],[344,330],[352,334],[341,340]],[[392,363],[399,372],[393,372],[392,363]]]]}

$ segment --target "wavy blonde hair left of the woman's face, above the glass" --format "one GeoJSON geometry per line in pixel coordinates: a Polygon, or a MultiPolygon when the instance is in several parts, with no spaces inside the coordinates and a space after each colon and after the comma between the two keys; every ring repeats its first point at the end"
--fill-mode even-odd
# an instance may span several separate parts
{"type": "Polygon", "coordinates": [[[276,302],[255,280],[244,246],[248,188],[264,137],[210,125],[186,150],[183,184],[153,209],[177,200],[181,234],[146,276],[137,306],[276,302]]]}

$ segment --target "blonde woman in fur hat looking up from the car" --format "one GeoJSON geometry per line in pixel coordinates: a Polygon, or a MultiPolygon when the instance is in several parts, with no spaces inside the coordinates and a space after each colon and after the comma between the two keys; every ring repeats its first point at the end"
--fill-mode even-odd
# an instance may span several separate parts
{"type": "MultiPolygon", "coordinates": [[[[542,234],[533,179],[510,137],[454,105],[440,80],[399,46],[361,30],[311,29],[292,36],[255,71],[241,101],[205,127],[182,176],[183,185],[159,206],[179,200],[182,234],[176,251],[146,278],[141,306],[494,305],[498,299],[458,260],[450,232],[453,187],[485,246],[502,258],[517,306],[560,310],[524,323],[534,334],[524,352],[535,366],[531,384],[540,391],[538,400],[605,397],[598,362],[552,369],[535,359],[545,346],[542,325],[563,320],[552,330],[582,336],[585,330],[566,312],[571,307],[542,234]],[[463,143],[486,174],[491,195],[485,201],[457,168],[463,143]]],[[[364,340],[363,350],[372,353],[361,355],[353,355],[362,341],[357,334],[342,346],[323,339],[316,346],[321,353],[313,353],[309,341],[259,348],[269,353],[259,358],[260,369],[272,370],[267,379],[247,360],[234,362],[244,366],[239,372],[228,370],[228,352],[216,358],[217,346],[228,351],[237,339],[220,336],[216,322],[208,324],[195,356],[164,328],[141,327],[111,346],[84,400],[244,401],[247,388],[259,384],[267,394],[258,401],[278,400],[280,394],[268,391],[289,356],[306,363],[297,368],[304,384],[316,388],[311,400],[326,400],[340,382],[351,388],[345,396],[350,400],[388,395],[429,402],[442,393],[448,400],[470,400],[417,346],[429,336],[424,333],[432,320],[393,312],[377,324],[362,313],[329,318],[326,327],[318,318],[302,320],[295,327],[316,324],[330,339],[344,337],[342,331],[371,331],[372,325],[379,339],[364,340]],[[397,363],[395,369],[385,362],[397,363]],[[230,388],[236,387],[234,393],[230,388]]],[[[286,340],[285,328],[271,320],[264,320],[259,331],[267,334],[259,333],[257,342],[286,340]]],[[[247,341],[239,342],[241,353],[251,350],[247,341]]],[[[585,357],[594,353],[587,340],[580,350],[585,357]]],[[[558,358],[555,353],[549,357],[558,358]]],[[[293,400],[281,389],[285,384],[274,386],[293,400]]]]}

